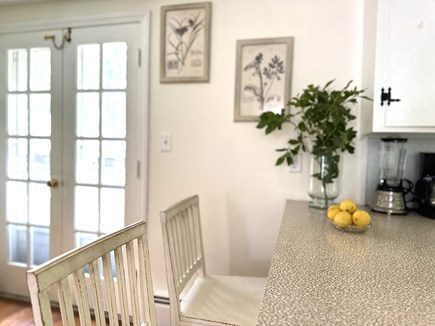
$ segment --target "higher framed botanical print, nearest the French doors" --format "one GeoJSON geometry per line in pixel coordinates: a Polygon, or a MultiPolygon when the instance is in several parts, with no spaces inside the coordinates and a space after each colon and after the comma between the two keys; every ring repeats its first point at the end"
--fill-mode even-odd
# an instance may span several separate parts
{"type": "Polygon", "coordinates": [[[161,7],[160,82],[208,82],[211,2],[161,7]]]}

